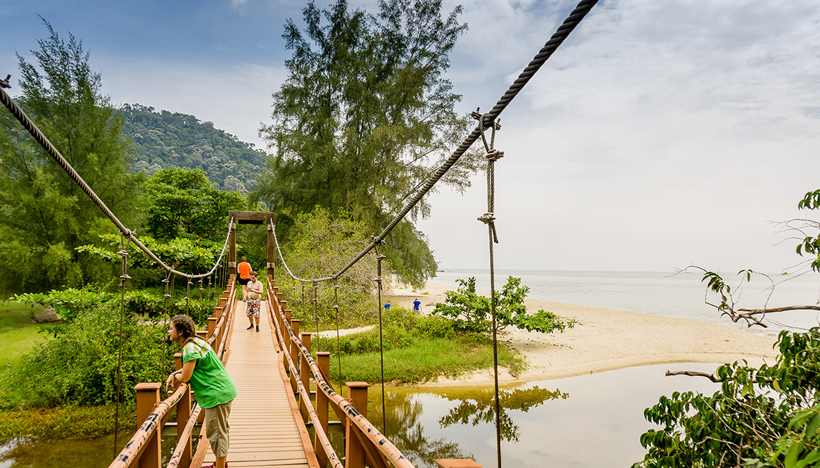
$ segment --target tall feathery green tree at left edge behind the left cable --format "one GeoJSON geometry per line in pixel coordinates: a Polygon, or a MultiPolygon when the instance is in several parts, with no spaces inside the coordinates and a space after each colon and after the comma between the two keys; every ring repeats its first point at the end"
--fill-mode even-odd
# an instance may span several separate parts
{"type": "MultiPolygon", "coordinates": [[[[48,37],[32,50],[36,64],[17,55],[17,103],[48,135],[107,207],[128,221],[141,176],[128,170],[122,118],[100,93],[101,77],[89,54],[47,21],[48,37]]],[[[7,112],[0,114],[0,290],[44,291],[79,287],[96,279],[99,265],[75,248],[113,226],[80,187],[7,112]]],[[[104,271],[107,273],[107,271],[104,271]]]]}

